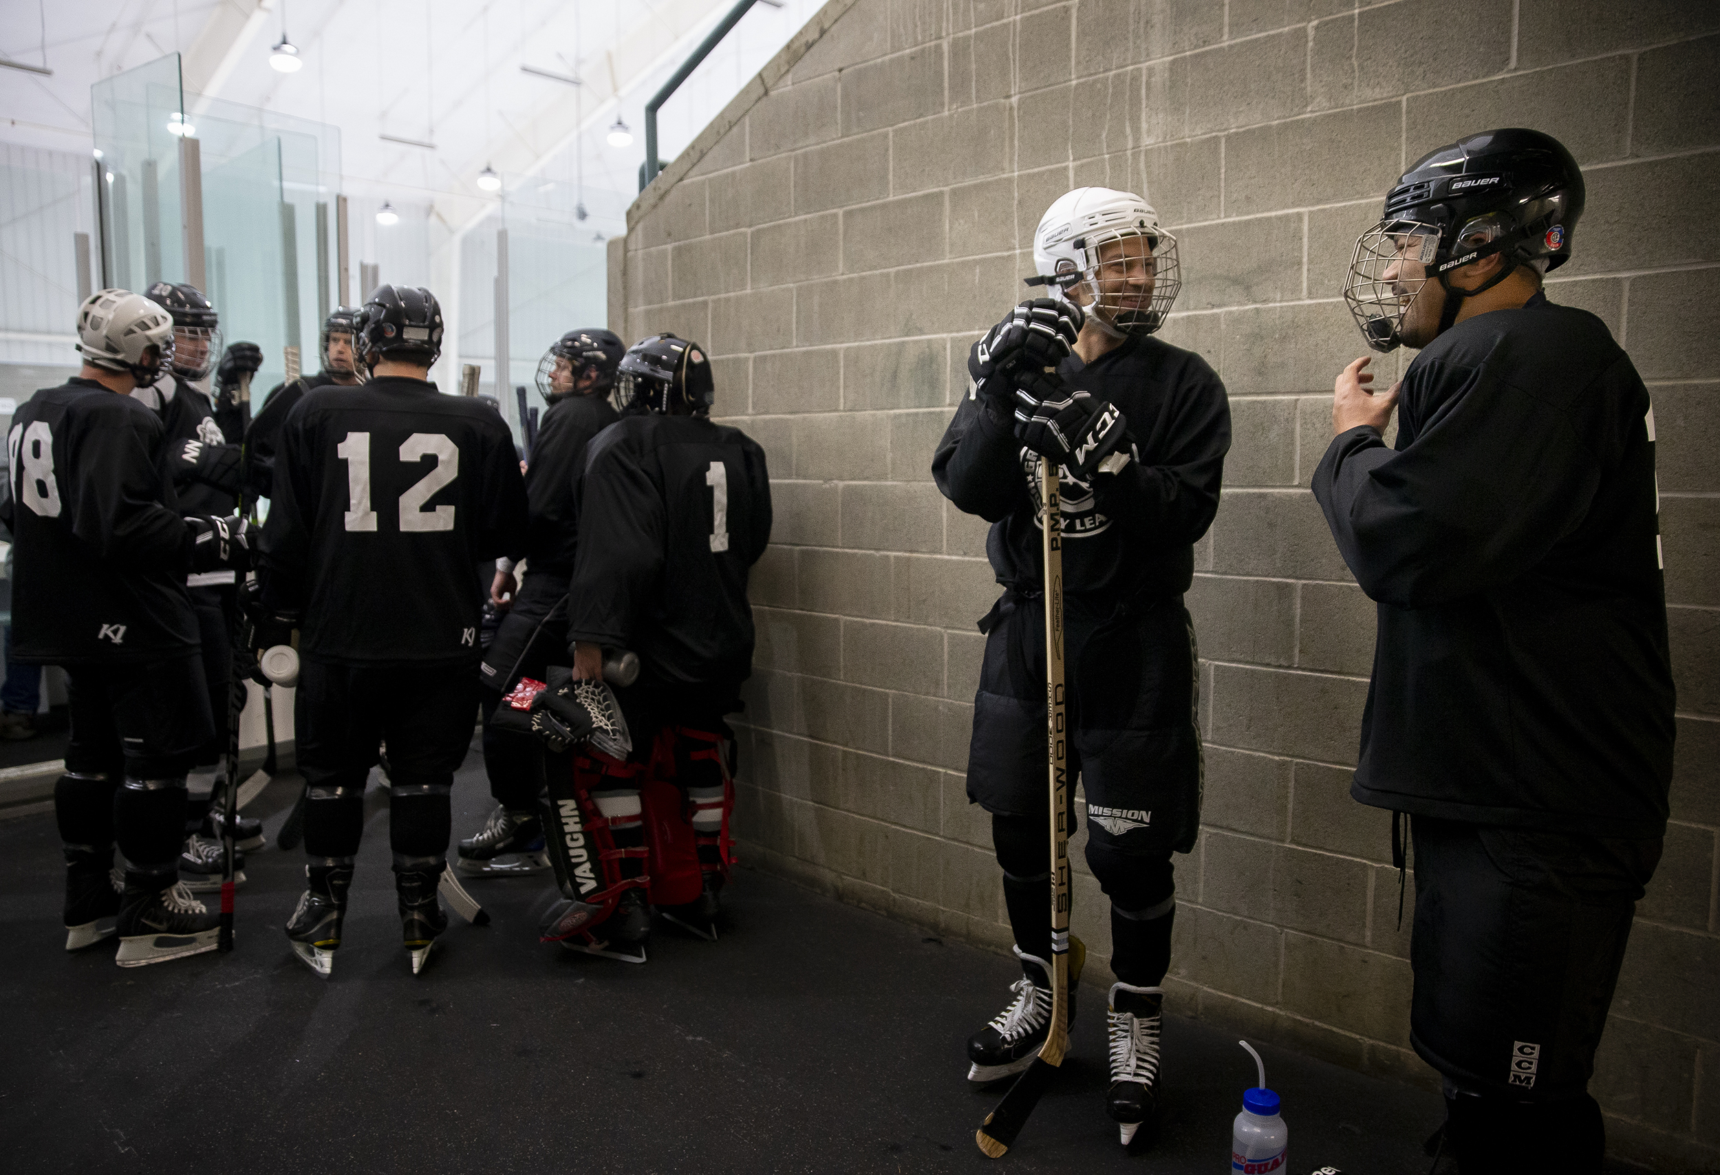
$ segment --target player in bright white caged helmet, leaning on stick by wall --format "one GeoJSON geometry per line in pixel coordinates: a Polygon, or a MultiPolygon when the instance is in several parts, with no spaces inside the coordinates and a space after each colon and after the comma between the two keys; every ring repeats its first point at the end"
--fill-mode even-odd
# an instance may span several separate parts
{"type": "MultiPolygon", "coordinates": [[[[980,621],[968,798],[992,845],[1023,977],[968,1039],[968,1080],[1017,1073],[1051,1018],[1046,826],[1046,638],[1039,458],[1061,466],[1063,616],[1072,776],[1087,802],[1087,864],[1111,898],[1106,1110],[1125,1146],[1152,1117],[1176,912],[1171,853],[1201,824],[1195,642],[1183,607],[1194,544],[1218,511],[1230,406],[1192,351],[1154,335],[1180,275],[1176,239],[1140,196],[1078,188],[1034,234],[1025,301],[974,344],[972,385],[932,458],[937,487],[992,523],[1004,587],[980,621]]],[[[1073,790],[1070,790],[1073,803],[1073,790]]],[[[1073,829],[1073,819],[1072,819],[1073,829]]],[[[1070,1025],[1073,1027],[1072,962],[1070,1025]]]]}

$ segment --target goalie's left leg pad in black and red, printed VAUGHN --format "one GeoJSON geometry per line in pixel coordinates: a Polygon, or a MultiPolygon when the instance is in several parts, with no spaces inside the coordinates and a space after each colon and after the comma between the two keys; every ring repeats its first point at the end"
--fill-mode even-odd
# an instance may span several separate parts
{"type": "Polygon", "coordinates": [[[556,767],[547,772],[538,800],[544,843],[556,870],[556,884],[576,908],[573,915],[544,927],[540,938],[545,943],[574,936],[590,939],[590,929],[614,912],[624,889],[648,884],[643,870],[647,848],[640,834],[640,764],[590,752],[573,755],[556,767]],[[599,807],[599,798],[612,815],[599,807]],[[635,843],[617,845],[617,829],[623,840],[635,843]]]}

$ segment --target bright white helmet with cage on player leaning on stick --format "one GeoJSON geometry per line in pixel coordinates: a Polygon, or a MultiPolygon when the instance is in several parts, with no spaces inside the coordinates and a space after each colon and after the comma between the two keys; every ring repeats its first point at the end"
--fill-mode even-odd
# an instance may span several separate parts
{"type": "Polygon", "coordinates": [[[1159,224],[1159,213],[1133,193],[1111,188],[1077,188],[1058,196],[1034,231],[1030,286],[1047,286],[1065,301],[1085,282],[1087,315],[1113,335],[1149,335],[1164,325],[1182,289],[1176,237],[1159,224]],[[1099,248],[1111,241],[1144,237],[1144,272],[1127,258],[1101,272],[1099,248]],[[1115,272],[1113,272],[1115,270],[1115,272]]]}

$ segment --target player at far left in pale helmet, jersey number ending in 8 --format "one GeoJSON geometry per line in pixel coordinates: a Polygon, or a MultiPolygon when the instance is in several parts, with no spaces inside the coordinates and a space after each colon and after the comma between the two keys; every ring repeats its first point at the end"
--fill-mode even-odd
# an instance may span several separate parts
{"type": "Polygon", "coordinates": [[[239,516],[181,516],[179,454],[134,396],[174,361],[169,311],[103,289],[79,310],[77,337],[83,370],[31,396],[7,435],[12,655],[69,676],[72,736],[53,788],[65,948],[119,934],[119,965],[138,967],[215,950],[217,917],[179,881],[186,772],[213,729],[186,576],[243,575],[249,533],[239,516]]]}

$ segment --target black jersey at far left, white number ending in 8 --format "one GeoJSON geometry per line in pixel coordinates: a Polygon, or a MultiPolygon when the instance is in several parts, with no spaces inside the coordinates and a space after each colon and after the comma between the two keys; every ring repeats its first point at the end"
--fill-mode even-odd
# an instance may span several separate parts
{"type": "Polygon", "coordinates": [[[12,659],[40,664],[194,654],[167,430],[131,396],[74,378],[12,418],[12,659]]]}

